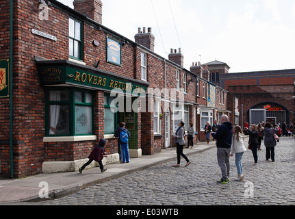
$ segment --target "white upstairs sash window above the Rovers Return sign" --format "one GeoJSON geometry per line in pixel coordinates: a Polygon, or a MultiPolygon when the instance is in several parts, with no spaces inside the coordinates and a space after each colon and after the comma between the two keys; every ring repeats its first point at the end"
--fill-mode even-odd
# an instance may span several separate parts
{"type": "Polygon", "coordinates": [[[82,23],[73,19],[68,19],[68,48],[71,58],[82,60],[82,23]]]}

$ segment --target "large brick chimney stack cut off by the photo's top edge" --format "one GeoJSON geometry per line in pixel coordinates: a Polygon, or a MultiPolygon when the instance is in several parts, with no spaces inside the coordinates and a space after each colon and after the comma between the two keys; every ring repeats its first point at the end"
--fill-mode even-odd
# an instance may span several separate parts
{"type": "Polygon", "coordinates": [[[101,0],[74,0],[74,10],[88,16],[98,23],[103,23],[103,3],[101,0]]]}

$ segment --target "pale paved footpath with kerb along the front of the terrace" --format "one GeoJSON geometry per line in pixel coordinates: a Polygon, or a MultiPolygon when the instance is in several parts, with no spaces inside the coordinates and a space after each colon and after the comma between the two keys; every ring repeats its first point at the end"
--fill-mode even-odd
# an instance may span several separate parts
{"type": "MultiPolygon", "coordinates": [[[[198,142],[193,149],[183,149],[185,155],[202,153],[216,147],[215,142],[198,142]]],[[[163,149],[156,155],[131,158],[129,164],[108,164],[106,172],[99,168],[79,172],[60,172],[34,175],[23,179],[0,179],[0,205],[9,203],[38,202],[61,198],[92,185],[117,179],[166,162],[177,161],[176,148],[163,149]],[[48,188],[48,196],[44,191],[48,188]]],[[[184,165],[184,164],[183,164],[184,165]]]]}

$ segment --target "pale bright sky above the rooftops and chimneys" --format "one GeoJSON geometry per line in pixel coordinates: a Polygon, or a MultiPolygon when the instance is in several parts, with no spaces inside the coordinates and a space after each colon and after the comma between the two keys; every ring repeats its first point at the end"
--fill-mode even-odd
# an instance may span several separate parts
{"type": "Polygon", "coordinates": [[[151,27],[155,53],[168,59],[181,48],[188,70],[214,60],[229,73],[295,69],[294,0],[101,1],[105,27],[133,41],[138,27],[151,27]]]}

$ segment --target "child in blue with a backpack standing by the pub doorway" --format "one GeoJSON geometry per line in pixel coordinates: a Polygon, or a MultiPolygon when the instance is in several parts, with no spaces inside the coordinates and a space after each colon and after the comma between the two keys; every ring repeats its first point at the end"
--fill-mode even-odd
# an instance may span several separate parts
{"type": "Polygon", "coordinates": [[[125,126],[126,123],[121,122],[118,129],[114,133],[114,137],[118,138],[118,142],[120,144],[120,157],[123,164],[130,162],[128,142],[131,135],[125,126]]]}

